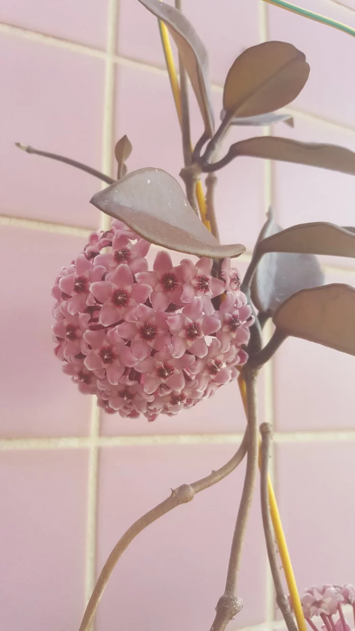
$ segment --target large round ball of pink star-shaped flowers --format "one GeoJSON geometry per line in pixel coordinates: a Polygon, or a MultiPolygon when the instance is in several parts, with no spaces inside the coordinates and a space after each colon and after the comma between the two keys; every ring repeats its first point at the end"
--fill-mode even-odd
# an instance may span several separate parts
{"type": "Polygon", "coordinates": [[[149,271],[149,247],[113,220],[91,233],[52,295],[55,355],[79,391],[96,394],[107,413],[153,421],[236,378],[253,319],[230,259],[221,279],[211,259],[173,266],[164,251],[149,271]]]}

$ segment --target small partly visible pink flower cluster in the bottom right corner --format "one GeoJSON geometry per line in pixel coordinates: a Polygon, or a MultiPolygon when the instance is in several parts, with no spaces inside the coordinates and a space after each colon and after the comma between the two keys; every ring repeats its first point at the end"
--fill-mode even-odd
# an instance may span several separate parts
{"type": "Polygon", "coordinates": [[[355,611],[355,587],[352,585],[310,587],[301,596],[301,604],[303,614],[313,631],[318,631],[311,620],[313,616],[322,618],[322,631],[350,631],[342,605],[350,604],[355,611]],[[339,616],[337,620],[334,620],[335,615],[339,616]]]}

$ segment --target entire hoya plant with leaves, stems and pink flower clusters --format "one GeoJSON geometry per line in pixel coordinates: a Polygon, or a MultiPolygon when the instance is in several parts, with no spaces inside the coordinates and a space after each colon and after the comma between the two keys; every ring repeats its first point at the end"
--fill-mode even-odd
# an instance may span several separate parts
{"type": "MultiPolygon", "coordinates": [[[[226,587],[216,606],[211,630],[223,631],[242,608],[237,594],[240,558],[260,465],[260,500],[265,541],[277,604],[289,631],[313,630],[320,615],[325,631],[348,631],[342,604],[353,604],[350,585],[324,585],[300,599],[268,476],[271,428],[257,421],[257,376],[288,336],[308,339],[355,355],[355,290],[323,285],[315,255],[355,257],[355,228],[331,223],[303,223],[287,230],[269,210],[243,281],[231,266],[240,244],[221,245],[214,211],[216,172],[240,156],[253,156],[322,167],[355,175],[355,154],[329,144],[300,143],[256,136],[216,154],[231,126],[292,124],[276,110],[298,96],[308,80],[305,55],[284,42],[265,42],[245,50],[233,63],[223,90],[221,122],[212,114],[207,51],[180,11],[159,0],[139,0],[158,18],[166,64],[182,131],[186,195],[171,175],[156,168],[127,174],[132,146],[124,136],[115,146],[117,181],[69,158],[61,160],[110,184],[91,203],[112,216],[107,231],[90,235],[88,245],[63,268],[52,290],[55,355],[83,394],[94,394],[107,413],[153,422],[176,415],[219,387],[238,380],[247,429],[235,456],[221,469],[172,491],[170,497],[138,519],[108,557],[84,613],[80,631],[91,628],[110,574],[129,543],[144,528],[195,493],[229,475],[247,456],[242,497],[231,544],[226,587]],[[178,49],[179,78],[173,65],[169,33],[178,49]],[[201,138],[190,141],[188,79],[201,110],[201,138]],[[201,185],[206,176],[206,199],[201,185]],[[151,244],[198,257],[173,266],[168,252],[156,254],[153,269],[146,255],[151,244]],[[341,314],[341,326],[339,326],[341,314]],[[263,346],[262,329],[272,319],[271,339],[263,346]],[[259,445],[260,441],[260,445],[259,445]],[[277,547],[274,539],[277,540],[277,547]],[[290,593],[284,585],[277,554],[290,593]],[[334,615],[337,614],[337,620],[334,615]]],[[[280,3],[288,4],[288,3],[280,3]]],[[[291,6],[291,5],[290,5],[291,6]]]]}

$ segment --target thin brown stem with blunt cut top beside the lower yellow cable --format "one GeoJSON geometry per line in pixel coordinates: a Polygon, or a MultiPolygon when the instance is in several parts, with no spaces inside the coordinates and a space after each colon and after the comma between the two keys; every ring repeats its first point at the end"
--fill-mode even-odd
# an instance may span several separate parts
{"type": "Polygon", "coordinates": [[[269,557],[272,580],[274,581],[276,591],[276,603],[279,606],[279,610],[281,611],[282,616],[284,616],[284,621],[286,622],[286,627],[288,628],[288,631],[297,631],[297,626],[291,613],[288,598],[284,593],[284,589],[282,587],[281,575],[279,572],[279,563],[277,563],[276,546],[274,543],[274,531],[272,529],[269,510],[269,492],[267,488],[267,477],[271,448],[270,423],[262,423],[262,425],[260,425],[260,433],[262,441],[260,448],[260,501],[267,556],[269,557]]]}

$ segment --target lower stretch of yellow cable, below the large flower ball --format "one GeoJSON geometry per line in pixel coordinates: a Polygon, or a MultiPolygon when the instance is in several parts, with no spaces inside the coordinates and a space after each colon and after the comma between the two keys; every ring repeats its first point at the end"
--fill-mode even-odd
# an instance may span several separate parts
{"type": "MultiPolygon", "coordinates": [[[[238,385],[240,389],[240,394],[242,396],[245,414],[247,414],[247,389],[245,386],[245,380],[242,378],[241,375],[238,377],[238,385]]],[[[292,563],[291,559],[289,558],[288,546],[286,543],[286,538],[284,536],[284,531],[282,529],[279,509],[277,508],[276,497],[274,489],[272,488],[270,476],[268,476],[267,478],[267,489],[269,492],[269,505],[272,525],[274,526],[274,533],[277,541],[277,546],[279,547],[282,567],[284,569],[286,582],[288,584],[289,595],[291,598],[294,615],[296,616],[299,631],[307,631],[305,616],[303,615],[302,605],[300,601],[300,595],[298,594],[296,579],[294,578],[292,563]]]]}

